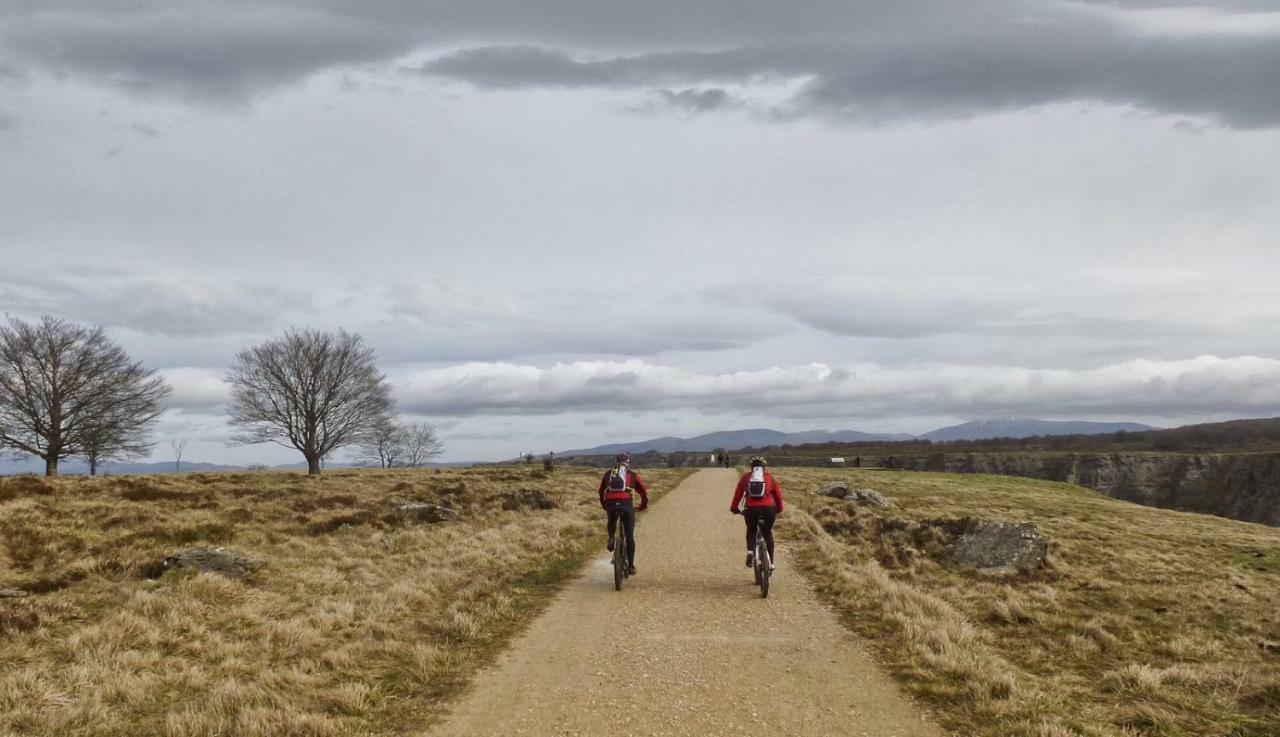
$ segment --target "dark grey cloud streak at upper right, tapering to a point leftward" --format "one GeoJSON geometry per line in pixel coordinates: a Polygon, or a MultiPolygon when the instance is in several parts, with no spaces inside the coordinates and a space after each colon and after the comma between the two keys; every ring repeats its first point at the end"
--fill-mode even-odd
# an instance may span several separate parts
{"type": "Polygon", "coordinates": [[[805,81],[774,107],[783,120],[955,118],[1087,101],[1204,115],[1239,128],[1280,123],[1277,69],[1275,36],[1140,37],[1096,18],[594,60],[554,49],[481,47],[421,67],[492,88],[805,81]]]}

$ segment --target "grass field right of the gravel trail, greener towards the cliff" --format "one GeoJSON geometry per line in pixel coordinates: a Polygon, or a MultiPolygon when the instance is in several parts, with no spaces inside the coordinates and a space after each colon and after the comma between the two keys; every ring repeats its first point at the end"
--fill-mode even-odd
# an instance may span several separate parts
{"type": "Polygon", "coordinates": [[[1280,734],[1280,530],[1025,479],[777,473],[800,566],[955,734],[1280,734]],[[896,519],[810,494],[836,480],[896,519]],[[950,563],[928,522],[963,517],[1036,523],[1050,566],[950,563]]]}

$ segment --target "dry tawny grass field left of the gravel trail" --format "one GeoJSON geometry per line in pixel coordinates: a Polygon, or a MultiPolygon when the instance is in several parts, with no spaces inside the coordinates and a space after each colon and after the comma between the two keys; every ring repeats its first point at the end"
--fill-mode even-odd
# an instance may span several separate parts
{"type": "MultiPolygon", "coordinates": [[[[645,477],[660,495],[687,473],[645,477]]],[[[531,466],[0,479],[0,590],[29,592],[0,598],[0,736],[426,727],[603,550],[598,480],[531,466]],[[401,502],[458,519],[403,523],[388,514],[401,502]],[[196,545],[265,566],[243,582],[148,577],[196,545]]]]}

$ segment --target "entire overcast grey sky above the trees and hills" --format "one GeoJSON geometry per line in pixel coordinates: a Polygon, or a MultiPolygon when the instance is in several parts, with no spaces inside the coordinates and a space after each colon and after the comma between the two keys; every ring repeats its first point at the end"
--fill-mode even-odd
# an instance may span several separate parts
{"type": "Polygon", "coordinates": [[[0,312],[360,333],[444,459],[1280,415],[1280,1],[0,0],[0,312]]]}

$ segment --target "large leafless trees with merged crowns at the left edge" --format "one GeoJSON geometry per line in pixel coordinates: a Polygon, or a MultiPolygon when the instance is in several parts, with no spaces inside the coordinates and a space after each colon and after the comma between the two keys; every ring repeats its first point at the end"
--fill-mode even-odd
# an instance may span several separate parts
{"type": "Polygon", "coordinates": [[[42,458],[46,476],[73,456],[150,450],[147,431],[170,392],[101,328],[50,316],[0,325],[0,447],[42,458]]]}

